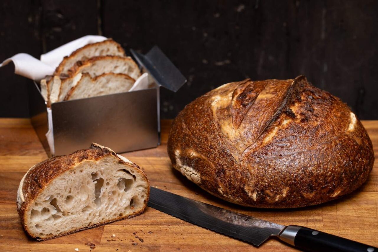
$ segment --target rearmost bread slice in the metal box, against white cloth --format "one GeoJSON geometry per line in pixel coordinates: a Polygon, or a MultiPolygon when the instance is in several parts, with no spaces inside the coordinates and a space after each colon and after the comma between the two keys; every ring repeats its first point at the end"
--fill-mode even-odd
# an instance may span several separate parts
{"type": "Polygon", "coordinates": [[[85,45],[70,54],[65,56],[56,68],[54,75],[67,74],[68,70],[75,65],[77,61],[85,61],[95,56],[125,56],[125,51],[120,44],[113,39],[107,39],[102,42],[85,45]]]}

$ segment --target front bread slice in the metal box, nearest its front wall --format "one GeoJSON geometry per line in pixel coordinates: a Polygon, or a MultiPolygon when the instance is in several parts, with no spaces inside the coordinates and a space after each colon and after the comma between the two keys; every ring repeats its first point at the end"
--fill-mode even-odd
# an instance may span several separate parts
{"type": "Polygon", "coordinates": [[[127,92],[135,82],[123,73],[103,73],[95,78],[91,78],[89,73],[79,73],[77,76],[81,78],[67,93],[65,101],[127,92]]]}

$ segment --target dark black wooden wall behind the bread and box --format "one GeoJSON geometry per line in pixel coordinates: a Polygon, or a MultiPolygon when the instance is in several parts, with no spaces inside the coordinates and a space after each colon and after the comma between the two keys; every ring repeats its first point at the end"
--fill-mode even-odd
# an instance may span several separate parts
{"type": "MultiPolygon", "coordinates": [[[[161,92],[163,118],[231,81],[304,74],[346,102],[361,119],[378,119],[378,1],[2,0],[0,61],[39,58],[78,37],[101,34],[146,53],[158,45],[187,77],[161,92]]],[[[0,116],[28,117],[26,85],[0,68],[0,116]]]]}

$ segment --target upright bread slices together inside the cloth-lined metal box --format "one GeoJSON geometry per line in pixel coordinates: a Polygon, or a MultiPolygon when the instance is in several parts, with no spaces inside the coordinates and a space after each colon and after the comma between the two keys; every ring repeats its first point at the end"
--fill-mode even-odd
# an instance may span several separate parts
{"type": "MultiPolygon", "coordinates": [[[[41,80],[41,94],[48,106],[50,106],[51,103],[73,100],[73,97],[82,96],[84,98],[85,96],[85,98],[88,98],[96,96],[95,94],[99,93],[107,95],[125,92],[115,90],[114,87],[122,87],[120,90],[125,90],[129,86],[131,79],[135,82],[139,76],[140,70],[138,65],[132,58],[125,56],[125,51],[121,45],[112,39],[107,39],[102,42],[88,44],[77,49],[70,56],[64,57],[63,61],[56,68],[54,75],[47,76],[47,78],[41,80]],[[85,80],[81,81],[85,73],[88,73],[90,78],[92,78],[91,81],[88,81],[87,75],[85,75],[85,80]],[[118,75],[108,75],[107,78],[96,78],[107,73],[116,73],[118,75]],[[122,75],[122,77],[119,75],[122,75]],[[124,87],[120,82],[122,79],[124,80],[124,87]],[[90,85],[85,89],[93,89],[93,92],[87,93],[87,95],[91,96],[67,96],[70,90],[74,89],[80,81],[82,86],[90,85]],[[117,82],[117,84],[112,84],[113,82],[117,82]],[[97,90],[98,88],[101,90],[97,90]]],[[[76,92],[74,91],[74,93],[76,92]]]]}

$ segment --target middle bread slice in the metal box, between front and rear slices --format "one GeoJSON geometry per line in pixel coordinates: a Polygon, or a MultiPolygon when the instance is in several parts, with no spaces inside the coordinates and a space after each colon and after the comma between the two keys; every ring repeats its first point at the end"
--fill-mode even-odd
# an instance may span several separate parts
{"type": "Polygon", "coordinates": [[[133,79],[138,79],[140,76],[139,67],[132,58],[119,56],[99,56],[77,62],[70,73],[69,78],[62,79],[57,101],[63,101],[68,91],[81,79],[79,73],[88,73],[92,78],[103,73],[123,73],[133,79]]]}

